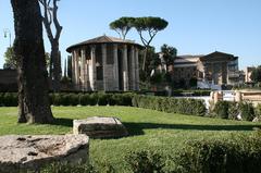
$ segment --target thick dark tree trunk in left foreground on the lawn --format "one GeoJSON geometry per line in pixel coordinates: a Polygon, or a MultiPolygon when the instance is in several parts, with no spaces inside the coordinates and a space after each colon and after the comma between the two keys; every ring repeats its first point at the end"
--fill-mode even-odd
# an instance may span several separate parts
{"type": "Polygon", "coordinates": [[[18,122],[51,123],[48,74],[38,0],[11,0],[18,72],[18,122]]]}

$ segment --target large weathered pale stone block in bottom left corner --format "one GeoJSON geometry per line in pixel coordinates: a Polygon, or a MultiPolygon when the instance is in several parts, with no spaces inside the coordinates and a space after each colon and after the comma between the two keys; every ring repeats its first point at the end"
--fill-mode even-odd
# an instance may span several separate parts
{"type": "Polygon", "coordinates": [[[88,161],[86,135],[8,135],[0,137],[0,172],[37,172],[51,163],[88,161]]]}

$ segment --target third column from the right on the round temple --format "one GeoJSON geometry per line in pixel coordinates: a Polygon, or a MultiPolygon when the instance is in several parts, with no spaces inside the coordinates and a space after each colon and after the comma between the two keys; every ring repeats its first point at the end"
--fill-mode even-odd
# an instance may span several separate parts
{"type": "Polygon", "coordinates": [[[128,90],[127,45],[123,47],[123,90],[128,90]]]}

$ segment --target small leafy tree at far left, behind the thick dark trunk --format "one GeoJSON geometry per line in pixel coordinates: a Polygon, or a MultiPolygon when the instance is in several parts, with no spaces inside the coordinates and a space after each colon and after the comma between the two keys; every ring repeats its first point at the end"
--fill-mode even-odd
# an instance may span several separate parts
{"type": "Polygon", "coordinates": [[[13,47],[9,47],[7,51],[4,52],[4,64],[3,69],[12,69],[15,70],[17,66],[17,62],[15,60],[13,47]]]}

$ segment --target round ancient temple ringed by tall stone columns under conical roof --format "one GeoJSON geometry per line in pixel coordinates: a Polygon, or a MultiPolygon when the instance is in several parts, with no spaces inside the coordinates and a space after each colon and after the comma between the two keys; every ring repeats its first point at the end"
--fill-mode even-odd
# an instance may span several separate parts
{"type": "Polygon", "coordinates": [[[138,54],[130,40],[101,36],[67,48],[76,90],[139,90],[138,54]]]}

